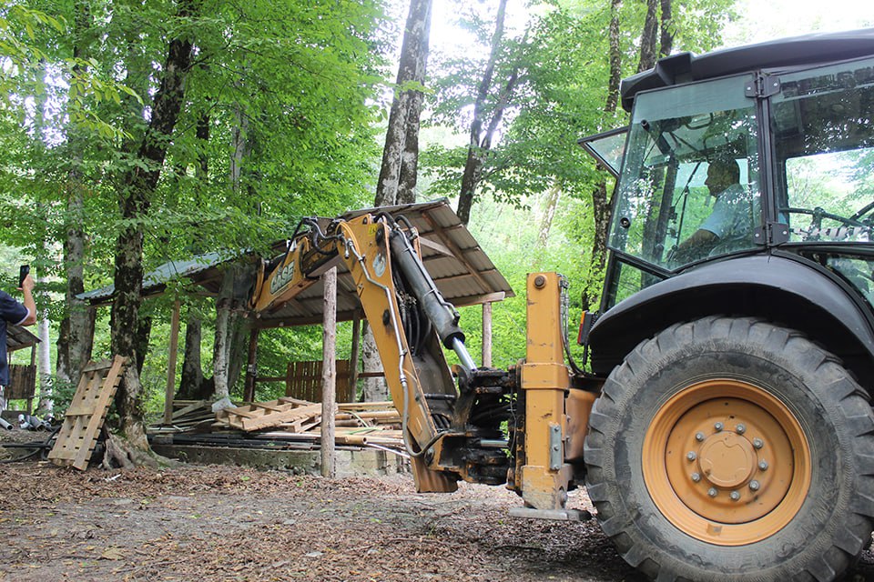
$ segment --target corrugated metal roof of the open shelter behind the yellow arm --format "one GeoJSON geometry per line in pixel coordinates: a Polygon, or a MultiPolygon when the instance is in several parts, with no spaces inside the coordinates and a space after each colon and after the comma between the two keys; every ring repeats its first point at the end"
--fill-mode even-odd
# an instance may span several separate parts
{"type": "MultiPolygon", "coordinates": [[[[462,225],[443,198],[415,205],[366,208],[344,214],[346,219],[363,214],[389,213],[409,221],[419,231],[422,261],[442,295],[454,306],[471,306],[512,297],[513,289],[485,254],[473,235],[462,225]]],[[[327,219],[325,224],[327,224],[327,219]]],[[[285,241],[273,248],[285,248],[285,241]]],[[[188,261],[171,261],[144,277],[143,295],[162,293],[171,280],[186,276],[209,294],[216,295],[221,283],[219,266],[243,256],[229,253],[209,253],[188,261]]],[[[113,295],[113,286],[103,287],[79,297],[92,304],[106,303],[113,295]]],[[[322,321],[323,287],[315,282],[299,296],[275,311],[259,316],[259,326],[300,326],[322,321]]],[[[337,319],[349,321],[361,313],[361,305],[349,269],[344,264],[337,268],[337,319]]]]}

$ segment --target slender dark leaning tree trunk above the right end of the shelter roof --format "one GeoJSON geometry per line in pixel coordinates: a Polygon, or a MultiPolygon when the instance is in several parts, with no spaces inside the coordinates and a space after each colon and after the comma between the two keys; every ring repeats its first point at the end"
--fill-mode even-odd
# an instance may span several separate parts
{"type": "MultiPolygon", "coordinates": [[[[471,122],[471,134],[467,148],[467,161],[464,164],[464,173],[462,174],[462,188],[458,197],[458,209],[456,213],[461,219],[462,224],[466,225],[471,219],[471,208],[473,200],[476,198],[476,188],[483,179],[483,166],[485,166],[485,156],[489,148],[492,146],[493,131],[486,130],[483,137],[483,124],[485,111],[483,110],[488,99],[489,91],[492,89],[494,67],[497,64],[498,54],[503,44],[503,21],[507,11],[507,0],[501,0],[498,4],[498,12],[494,19],[494,32],[492,35],[492,48],[489,53],[489,61],[485,65],[483,78],[480,80],[480,85],[476,92],[476,100],[473,103],[473,121],[471,122]]],[[[515,85],[513,79],[512,84],[515,85]]],[[[513,85],[508,82],[504,85],[504,93],[509,86],[510,91],[513,90],[513,85]]],[[[497,129],[503,116],[503,108],[500,106],[493,112],[492,122],[489,127],[497,129]],[[496,123],[495,123],[496,122],[496,123]]]]}

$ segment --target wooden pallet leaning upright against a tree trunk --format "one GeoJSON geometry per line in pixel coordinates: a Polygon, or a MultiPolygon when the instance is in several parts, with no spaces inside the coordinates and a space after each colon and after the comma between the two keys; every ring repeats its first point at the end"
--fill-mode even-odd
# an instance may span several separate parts
{"type": "Polygon", "coordinates": [[[112,362],[104,360],[85,366],[73,402],[66,409],[64,425],[48,454],[48,459],[55,465],[73,466],[79,470],[88,467],[126,362],[127,358],[116,356],[112,362]]]}

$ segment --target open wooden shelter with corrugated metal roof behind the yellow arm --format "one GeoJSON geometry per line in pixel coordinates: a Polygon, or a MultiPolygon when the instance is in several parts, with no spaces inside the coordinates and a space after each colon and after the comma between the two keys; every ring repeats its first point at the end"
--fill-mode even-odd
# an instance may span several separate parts
{"type": "MultiPolygon", "coordinates": [[[[491,259],[483,252],[467,228],[462,225],[458,216],[452,211],[446,199],[405,206],[383,206],[357,210],[343,215],[343,218],[361,216],[365,213],[388,213],[397,219],[403,216],[419,232],[422,246],[422,261],[432,276],[434,283],[440,289],[442,296],[454,306],[483,305],[483,364],[491,362],[491,336],[485,331],[491,329],[489,306],[492,302],[501,301],[504,297],[513,296],[513,289],[503,275],[493,265],[491,259]]],[[[325,224],[329,219],[324,219],[325,224]]],[[[289,240],[282,240],[273,245],[277,256],[284,254],[289,240]]],[[[273,257],[271,257],[273,258],[273,257]]],[[[185,261],[171,261],[148,273],[143,281],[143,296],[156,296],[165,291],[168,283],[182,277],[200,286],[205,295],[218,296],[224,269],[233,261],[260,260],[259,256],[250,251],[237,253],[209,253],[185,261]]],[[[254,286],[254,281],[252,282],[254,286]]],[[[354,389],[358,377],[358,341],[362,317],[361,304],[349,270],[340,265],[337,267],[336,287],[336,322],[353,321],[353,346],[351,365],[345,363],[337,366],[337,376],[340,386],[354,389]],[[348,370],[348,377],[339,378],[340,370],[348,370]]],[[[103,287],[79,297],[92,306],[107,305],[115,294],[113,286],[103,287]]],[[[322,280],[300,293],[288,303],[275,310],[258,314],[251,319],[251,336],[249,341],[249,362],[247,366],[246,389],[244,400],[251,401],[255,394],[255,385],[260,381],[285,381],[286,395],[304,396],[300,390],[307,390],[310,401],[317,400],[312,394],[312,385],[321,374],[321,362],[291,364],[285,376],[258,376],[256,355],[258,349],[259,331],[275,327],[303,326],[323,324],[325,288],[322,280]],[[300,386],[299,386],[300,385],[300,386]]],[[[168,391],[165,404],[165,417],[172,414],[172,399],[175,390],[175,357],[178,346],[179,305],[175,306],[173,325],[170,338],[170,366],[168,369],[168,391]]],[[[340,395],[338,395],[340,396],[340,395]]],[[[348,397],[346,394],[340,397],[348,397]]]]}

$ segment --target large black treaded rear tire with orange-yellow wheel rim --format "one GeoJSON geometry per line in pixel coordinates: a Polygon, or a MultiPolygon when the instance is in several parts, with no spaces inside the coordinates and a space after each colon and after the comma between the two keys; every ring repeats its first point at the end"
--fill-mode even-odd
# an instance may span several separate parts
{"type": "Polygon", "coordinates": [[[610,375],[589,425],[589,497],[648,577],[831,580],[870,542],[868,398],[794,331],[671,326],[610,375]]]}

